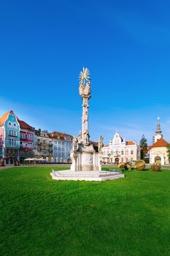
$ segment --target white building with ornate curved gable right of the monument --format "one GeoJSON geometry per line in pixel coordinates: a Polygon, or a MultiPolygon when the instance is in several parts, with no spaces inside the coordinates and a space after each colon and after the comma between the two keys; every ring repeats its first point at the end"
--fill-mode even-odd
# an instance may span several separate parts
{"type": "Polygon", "coordinates": [[[118,132],[115,133],[108,146],[102,148],[102,162],[118,164],[119,162],[132,162],[140,159],[140,146],[134,141],[126,141],[118,132]]]}

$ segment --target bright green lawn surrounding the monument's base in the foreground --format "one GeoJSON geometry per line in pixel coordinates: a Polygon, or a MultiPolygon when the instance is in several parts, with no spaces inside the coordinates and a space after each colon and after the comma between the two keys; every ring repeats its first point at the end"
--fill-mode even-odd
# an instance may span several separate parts
{"type": "Polygon", "coordinates": [[[51,168],[0,171],[0,255],[170,255],[170,170],[89,182],[51,168]]]}

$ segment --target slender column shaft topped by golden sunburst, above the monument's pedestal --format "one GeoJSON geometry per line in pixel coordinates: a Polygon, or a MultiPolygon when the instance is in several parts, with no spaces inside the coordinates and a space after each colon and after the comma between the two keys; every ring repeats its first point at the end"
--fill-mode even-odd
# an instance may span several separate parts
{"type": "MultiPolygon", "coordinates": [[[[87,68],[83,67],[80,72],[80,86],[79,93],[82,97],[82,131],[81,138],[79,140],[84,144],[89,144],[89,130],[88,130],[88,99],[90,99],[91,87],[90,87],[90,72],[87,68]]],[[[79,141],[79,142],[80,142],[79,141]]]]}

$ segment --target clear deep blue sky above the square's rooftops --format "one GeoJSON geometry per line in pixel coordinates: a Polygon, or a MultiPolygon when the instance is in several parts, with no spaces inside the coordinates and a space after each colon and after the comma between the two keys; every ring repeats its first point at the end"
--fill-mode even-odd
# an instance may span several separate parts
{"type": "Polygon", "coordinates": [[[90,139],[118,129],[170,141],[169,1],[1,1],[0,115],[77,135],[78,75],[90,69],[90,139]]]}

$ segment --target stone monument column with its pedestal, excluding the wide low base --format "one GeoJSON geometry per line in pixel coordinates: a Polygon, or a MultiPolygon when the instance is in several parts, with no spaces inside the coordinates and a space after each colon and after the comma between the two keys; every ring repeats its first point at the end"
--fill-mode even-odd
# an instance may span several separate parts
{"type": "Polygon", "coordinates": [[[72,158],[71,170],[101,170],[100,160],[101,152],[97,153],[90,143],[88,130],[88,100],[90,99],[90,72],[87,68],[83,68],[80,72],[79,94],[82,98],[82,129],[77,137],[72,140],[73,148],[70,154],[72,158]]]}

